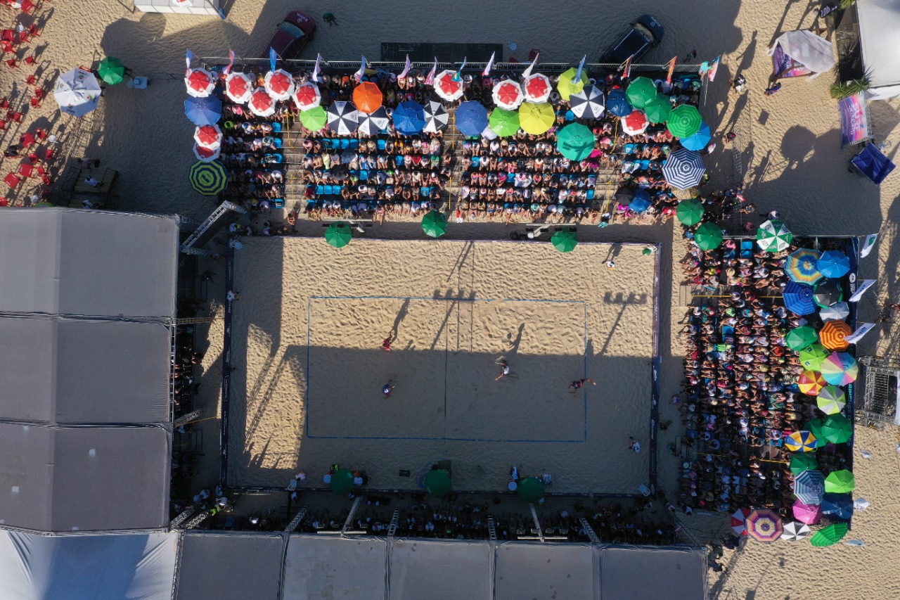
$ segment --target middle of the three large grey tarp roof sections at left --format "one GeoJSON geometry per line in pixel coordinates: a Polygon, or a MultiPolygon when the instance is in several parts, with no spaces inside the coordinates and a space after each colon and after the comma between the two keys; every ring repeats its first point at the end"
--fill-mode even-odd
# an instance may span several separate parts
{"type": "Polygon", "coordinates": [[[41,423],[162,423],[162,323],[0,317],[0,417],[41,423]]]}

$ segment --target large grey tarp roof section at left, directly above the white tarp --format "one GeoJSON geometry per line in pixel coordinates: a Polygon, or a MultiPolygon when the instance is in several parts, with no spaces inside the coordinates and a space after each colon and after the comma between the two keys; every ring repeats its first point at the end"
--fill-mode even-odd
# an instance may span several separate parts
{"type": "Polygon", "coordinates": [[[0,524],[52,532],[168,524],[164,427],[0,423],[0,524]]]}

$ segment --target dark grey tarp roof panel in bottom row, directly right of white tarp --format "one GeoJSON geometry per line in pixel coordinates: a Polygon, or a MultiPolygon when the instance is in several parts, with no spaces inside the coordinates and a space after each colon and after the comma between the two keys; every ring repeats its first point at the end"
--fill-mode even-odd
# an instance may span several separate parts
{"type": "Polygon", "coordinates": [[[278,533],[185,533],[175,600],[278,600],[284,542],[278,533]]]}

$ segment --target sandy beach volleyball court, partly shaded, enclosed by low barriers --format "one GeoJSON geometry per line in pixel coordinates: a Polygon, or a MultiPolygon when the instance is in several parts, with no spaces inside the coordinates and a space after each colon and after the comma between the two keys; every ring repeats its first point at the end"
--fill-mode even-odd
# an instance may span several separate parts
{"type": "Polygon", "coordinates": [[[649,448],[652,425],[656,254],[643,250],[247,239],[229,483],[282,486],[302,469],[321,486],[338,462],[372,487],[415,489],[446,459],[459,490],[502,490],[516,464],[551,473],[555,492],[635,493],[650,457],[628,436],[649,448]],[[497,380],[502,359],[511,377],[497,380]],[[598,385],[570,393],[584,377],[598,385]]]}

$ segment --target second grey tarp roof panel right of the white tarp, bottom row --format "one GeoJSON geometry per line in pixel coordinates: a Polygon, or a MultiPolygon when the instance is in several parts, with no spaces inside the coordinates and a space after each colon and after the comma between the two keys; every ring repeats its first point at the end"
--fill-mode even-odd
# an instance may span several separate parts
{"type": "Polygon", "coordinates": [[[383,598],[387,542],[294,534],[284,558],[282,600],[383,598]]]}

